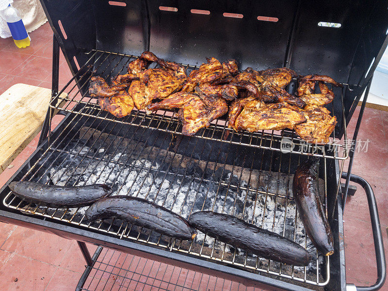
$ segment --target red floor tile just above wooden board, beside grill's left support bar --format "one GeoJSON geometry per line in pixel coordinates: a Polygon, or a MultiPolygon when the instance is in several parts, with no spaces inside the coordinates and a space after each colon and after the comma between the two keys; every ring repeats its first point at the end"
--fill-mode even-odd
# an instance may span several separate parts
{"type": "Polygon", "coordinates": [[[10,72],[14,76],[27,76],[31,79],[45,81],[51,75],[52,61],[48,58],[31,56],[10,72]]]}

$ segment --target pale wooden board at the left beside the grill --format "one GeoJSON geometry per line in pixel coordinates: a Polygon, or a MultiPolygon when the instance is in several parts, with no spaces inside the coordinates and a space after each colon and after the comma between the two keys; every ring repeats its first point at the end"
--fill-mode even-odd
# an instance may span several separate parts
{"type": "Polygon", "coordinates": [[[27,84],[0,95],[0,173],[42,129],[50,98],[50,89],[27,84]]]}

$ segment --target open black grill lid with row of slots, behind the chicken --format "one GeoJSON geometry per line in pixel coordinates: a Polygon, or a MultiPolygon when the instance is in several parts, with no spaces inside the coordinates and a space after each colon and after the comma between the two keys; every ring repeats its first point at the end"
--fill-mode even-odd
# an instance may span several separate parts
{"type": "Polygon", "coordinates": [[[90,49],[150,49],[191,65],[214,56],[235,58],[241,69],[288,66],[355,85],[345,92],[347,114],[387,46],[388,1],[41,1],[73,71],[73,57],[82,66],[90,49]]]}

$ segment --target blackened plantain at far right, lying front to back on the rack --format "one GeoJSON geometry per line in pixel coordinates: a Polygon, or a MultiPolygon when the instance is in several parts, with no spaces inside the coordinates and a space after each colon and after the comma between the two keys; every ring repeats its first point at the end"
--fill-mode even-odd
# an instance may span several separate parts
{"type": "Polygon", "coordinates": [[[316,162],[300,164],[294,175],[292,192],[307,236],[321,254],[330,256],[334,253],[333,235],[317,191],[316,179],[316,162]]]}

